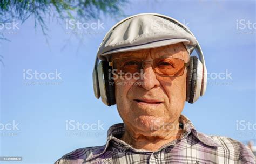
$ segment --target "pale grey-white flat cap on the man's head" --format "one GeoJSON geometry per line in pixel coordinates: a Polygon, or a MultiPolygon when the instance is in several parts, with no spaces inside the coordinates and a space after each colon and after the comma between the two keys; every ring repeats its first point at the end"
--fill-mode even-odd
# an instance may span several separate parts
{"type": "Polygon", "coordinates": [[[183,42],[190,54],[196,38],[164,17],[144,14],[131,17],[114,27],[105,36],[97,56],[106,60],[110,54],[156,48],[183,42]]]}

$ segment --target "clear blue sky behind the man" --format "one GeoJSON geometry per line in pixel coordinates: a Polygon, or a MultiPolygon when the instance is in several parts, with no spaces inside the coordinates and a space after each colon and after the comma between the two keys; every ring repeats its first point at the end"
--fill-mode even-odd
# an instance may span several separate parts
{"type": "MultiPolygon", "coordinates": [[[[200,132],[245,143],[255,140],[255,129],[237,130],[237,126],[244,127],[237,122],[256,124],[256,30],[250,26],[237,29],[237,20],[256,27],[254,1],[131,1],[124,12],[127,16],[156,12],[187,23],[203,48],[212,78],[206,94],[195,104],[186,103],[183,114],[200,132]],[[226,72],[231,78],[214,78],[226,72]]],[[[93,95],[97,48],[117,20],[103,16],[100,22],[104,29],[90,29],[95,33],[75,37],[66,33],[65,22],[51,20],[47,44],[40,28],[35,32],[31,18],[19,25],[15,34],[6,35],[11,42],[1,41],[5,66],[0,66],[0,156],[22,156],[23,161],[17,163],[53,163],[74,149],[104,145],[107,129],[122,122],[116,106],[107,107],[93,95]],[[62,79],[24,80],[24,69],[39,73],[57,70],[62,79]],[[103,128],[66,130],[67,120],[103,124],[103,128]],[[1,125],[13,122],[17,128],[1,130],[1,125]]]]}

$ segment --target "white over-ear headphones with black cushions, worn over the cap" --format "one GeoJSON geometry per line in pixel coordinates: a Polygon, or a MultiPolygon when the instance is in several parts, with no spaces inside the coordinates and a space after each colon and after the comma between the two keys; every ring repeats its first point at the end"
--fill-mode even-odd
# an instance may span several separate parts
{"type": "MultiPolygon", "coordinates": [[[[142,14],[127,17],[121,20],[120,22],[118,22],[106,33],[105,37],[103,38],[103,41],[110,34],[110,32],[114,30],[114,28],[116,28],[118,25],[122,24],[128,19],[131,19],[136,16],[141,16],[141,15],[154,15],[161,18],[165,18],[170,22],[177,24],[178,26],[183,28],[186,32],[190,33],[194,37],[193,33],[185,25],[181,24],[176,19],[173,19],[165,15],[160,15],[158,13],[142,13],[142,14]]],[[[101,45],[102,44],[100,44],[100,46],[101,45]]],[[[187,78],[186,78],[186,101],[191,104],[196,102],[199,96],[203,96],[205,94],[206,85],[207,85],[207,69],[205,66],[204,54],[198,41],[194,49],[196,50],[199,59],[196,56],[190,57],[189,67],[187,70],[187,78]]],[[[192,51],[190,52],[190,54],[192,53],[192,51]]],[[[114,81],[111,78],[112,76],[112,74],[110,74],[111,71],[112,71],[112,67],[109,66],[109,62],[108,61],[99,62],[99,59],[96,56],[95,67],[92,73],[93,90],[95,93],[95,97],[96,98],[102,97],[102,102],[107,106],[116,104],[116,98],[115,98],[115,92],[114,92],[114,81]]]]}

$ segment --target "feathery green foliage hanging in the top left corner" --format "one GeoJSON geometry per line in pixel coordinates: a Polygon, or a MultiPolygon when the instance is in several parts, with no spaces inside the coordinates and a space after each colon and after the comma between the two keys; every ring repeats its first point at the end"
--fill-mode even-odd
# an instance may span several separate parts
{"type": "MultiPolygon", "coordinates": [[[[35,28],[39,24],[46,35],[46,18],[89,20],[100,14],[122,16],[126,0],[0,0],[0,23],[33,16],[35,28]]],[[[1,39],[1,36],[0,36],[1,39]]],[[[2,38],[3,39],[3,38],[2,38]]]]}

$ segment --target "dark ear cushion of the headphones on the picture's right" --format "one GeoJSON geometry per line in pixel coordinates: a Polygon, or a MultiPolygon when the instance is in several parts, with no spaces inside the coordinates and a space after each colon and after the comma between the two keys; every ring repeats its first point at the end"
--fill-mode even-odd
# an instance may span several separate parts
{"type": "Polygon", "coordinates": [[[188,103],[194,103],[194,95],[197,87],[197,67],[198,58],[196,56],[190,57],[189,67],[187,71],[187,89],[186,89],[186,101],[188,103]]]}

